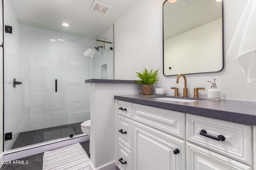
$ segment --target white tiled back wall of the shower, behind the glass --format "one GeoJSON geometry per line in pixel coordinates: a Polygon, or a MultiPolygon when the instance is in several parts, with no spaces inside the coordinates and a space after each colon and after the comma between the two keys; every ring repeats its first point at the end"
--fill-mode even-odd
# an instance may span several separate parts
{"type": "MultiPolygon", "coordinates": [[[[20,103],[20,111],[15,112],[19,114],[19,132],[90,119],[90,86],[84,83],[88,79],[88,58],[83,53],[95,46],[95,40],[24,24],[19,24],[19,31],[20,68],[14,72],[22,84],[10,87],[20,90],[20,95],[13,97],[20,103]]],[[[6,75],[8,80],[12,77],[6,75]]],[[[7,110],[13,107],[8,99],[6,103],[7,110]]]]}

